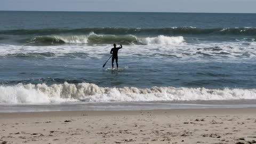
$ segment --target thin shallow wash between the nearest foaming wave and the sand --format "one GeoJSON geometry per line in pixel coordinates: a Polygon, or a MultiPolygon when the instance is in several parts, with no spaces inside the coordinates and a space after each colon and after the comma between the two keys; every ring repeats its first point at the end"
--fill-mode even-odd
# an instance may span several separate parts
{"type": "Polygon", "coordinates": [[[177,101],[177,102],[67,102],[52,104],[6,104],[0,105],[0,113],[40,111],[116,111],[116,110],[172,110],[212,108],[256,108],[256,100],[226,101],[177,101]],[[190,103],[189,103],[190,102],[190,103]]]}

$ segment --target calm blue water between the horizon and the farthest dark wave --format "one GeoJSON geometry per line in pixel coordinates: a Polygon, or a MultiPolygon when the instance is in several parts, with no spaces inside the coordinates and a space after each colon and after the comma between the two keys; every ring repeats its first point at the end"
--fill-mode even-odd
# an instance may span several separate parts
{"type": "Polygon", "coordinates": [[[1,30],[43,28],[255,27],[256,14],[1,11],[1,30]]]}

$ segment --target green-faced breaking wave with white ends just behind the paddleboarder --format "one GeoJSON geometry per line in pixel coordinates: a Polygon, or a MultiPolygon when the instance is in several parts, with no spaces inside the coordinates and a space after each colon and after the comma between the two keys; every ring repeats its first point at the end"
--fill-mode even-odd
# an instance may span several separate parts
{"type": "Polygon", "coordinates": [[[30,40],[30,43],[35,44],[162,44],[168,45],[173,43],[181,43],[184,39],[182,36],[163,36],[159,35],[157,37],[136,37],[134,35],[97,35],[90,33],[89,35],[49,35],[49,36],[37,36],[30,40]]]}

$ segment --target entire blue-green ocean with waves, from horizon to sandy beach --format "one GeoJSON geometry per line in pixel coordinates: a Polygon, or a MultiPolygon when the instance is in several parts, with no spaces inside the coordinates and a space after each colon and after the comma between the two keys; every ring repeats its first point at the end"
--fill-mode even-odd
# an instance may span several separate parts
{"type": "Polygon", "coordinates": [[[256,14],[0,19],[0,112],[256,107],[256,14]],[[119,69],[102,68],[114,43],[119,69]]]}

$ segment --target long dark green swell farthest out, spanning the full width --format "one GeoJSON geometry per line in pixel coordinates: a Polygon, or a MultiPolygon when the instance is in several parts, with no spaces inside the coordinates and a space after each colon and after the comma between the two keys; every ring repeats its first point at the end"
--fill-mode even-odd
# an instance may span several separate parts
{"type": "Polygon", "coordinates": [[[105,35],[256,35],[256,28],[80,28],[80,29],[14,29],[2,30],[5,35],[83,35],[91,32],[105,35]]]}

